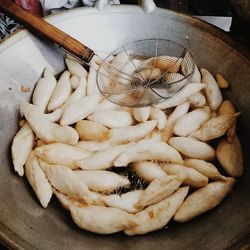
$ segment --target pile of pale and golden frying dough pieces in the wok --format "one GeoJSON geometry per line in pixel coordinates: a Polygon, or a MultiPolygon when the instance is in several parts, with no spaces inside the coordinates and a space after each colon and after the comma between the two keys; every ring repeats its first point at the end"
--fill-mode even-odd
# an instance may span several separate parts
{"type": "MultiPolygon", "coordinates": [[[[110,58],[112,60],[112,58],[110,58]]],[[[154,107],[127,108],[104,99],[89,72],[66,58],[57,81],[45,69],[12,144],[15,171],[24,173],[45,208],[54,194],[82,229],[145,234],[173,219],[188,221],[217,206],[243,173],[239,113],[198,69],[174,98],[154,107]],[[129,166],[148,186],[123,194],[127,177],[110,170],[129,166]]],[[[228,90],[224,90],[228,91],[228,90]]]]}

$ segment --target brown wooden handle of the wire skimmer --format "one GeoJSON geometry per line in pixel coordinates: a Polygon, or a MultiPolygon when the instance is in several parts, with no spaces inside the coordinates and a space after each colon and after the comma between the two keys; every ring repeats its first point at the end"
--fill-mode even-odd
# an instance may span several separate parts
{"type": "Polygon", "coordinates": [[[79,59],[89,62],[94,52],[43,19],[33,16],[11,0],[0,0],[0,10],[16,19],[32,33],[45,37],[79,59]]]}

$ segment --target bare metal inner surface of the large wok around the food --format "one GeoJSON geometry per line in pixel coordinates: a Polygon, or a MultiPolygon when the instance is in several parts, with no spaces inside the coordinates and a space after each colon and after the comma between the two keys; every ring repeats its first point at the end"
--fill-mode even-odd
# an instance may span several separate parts
{"type": "MultiPolygon", "coordinates": [[[[18,108],[33,89],[43,68],[57,72],[64,67],[63,54],[26,31],[0,44],[0,237],[15,249],[225,249],[245,243],[250,231],[250,55],[226,34],[202,21],[156,9],[146,15],[140,7],[111,6],[75,9],[48,19],[86,45],[112,51],[138,39],[165,38],[187,47],[199,66],[219,71],[230,80],[225,92],[242,112],[238,133],[243,144],[245,173],[232,194],[217,208],[185,224],[144,236],[101,236],[78,229],[67,212],[52,200],[41,208],[25,178],[18,177],[10,161],[10,143],[17,130],[18,108]],[[85,23],[91,23],[88,28],[85,23]],[[103,39],[105,37],[105,39],[103,39]],[[239,52],[241,51],[241,53],[239,52]]],[[[244,246],[244,245],[242,245],[244,246]]]]}

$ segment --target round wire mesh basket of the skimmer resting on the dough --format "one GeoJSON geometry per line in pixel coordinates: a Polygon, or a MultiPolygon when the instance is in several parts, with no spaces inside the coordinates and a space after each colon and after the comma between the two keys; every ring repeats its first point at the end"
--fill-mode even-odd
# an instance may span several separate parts
{"type": "Polygon", "coordinates": [[[193,72],[194,60],[186,48],[166,39],[146,39],[108,55],[98,68],[97,85],[116,104],[151,106],[183,90],[193,72]],[[114,56],[111,63],[110,56],[114,56]]]}

